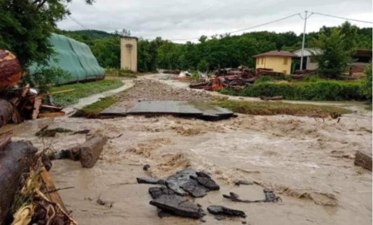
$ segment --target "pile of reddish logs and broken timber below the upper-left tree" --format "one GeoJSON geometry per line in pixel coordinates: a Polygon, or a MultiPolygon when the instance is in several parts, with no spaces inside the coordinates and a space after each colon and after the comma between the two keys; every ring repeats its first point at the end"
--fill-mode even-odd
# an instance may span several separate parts
{"type": "MultiPolygon", "coordinates": [[[[17,58],[7,50],[0,50],[0,127],[9,121],[63,116],[62,107],[53,104],[52,94],[39,94],[29,84],[18,85],[22,77],[17,58]]],[[[74,90],[67,90],[69,92],[74,90]]],[[[61,93],[61,92],[58,92],[61,93]]]]}

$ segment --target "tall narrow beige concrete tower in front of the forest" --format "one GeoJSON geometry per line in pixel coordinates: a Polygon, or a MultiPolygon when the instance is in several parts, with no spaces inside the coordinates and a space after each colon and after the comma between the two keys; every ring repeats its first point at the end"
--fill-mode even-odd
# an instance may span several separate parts
{"type": "Polygon", "coordinates": [[[137,37],[121,38],[121,69],[137,72],[137,37]]]}

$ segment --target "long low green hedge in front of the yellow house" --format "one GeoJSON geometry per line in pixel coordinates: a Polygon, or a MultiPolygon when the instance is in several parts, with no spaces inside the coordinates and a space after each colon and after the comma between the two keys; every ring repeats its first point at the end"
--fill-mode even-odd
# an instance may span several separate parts
{"type": "Polygon", "coordinates": [[[245,86],[240,91],[223,89],[221,93],[246,97],[281,95],[289,100],[365,100],[361,87],[361,81],[264,82],[245,86]]]}

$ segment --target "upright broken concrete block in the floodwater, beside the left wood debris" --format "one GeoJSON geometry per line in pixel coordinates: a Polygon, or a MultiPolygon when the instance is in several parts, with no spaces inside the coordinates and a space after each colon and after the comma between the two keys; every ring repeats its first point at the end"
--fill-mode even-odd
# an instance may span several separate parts
{"type": "Polygon", "coordinates": [[[83,144],[72,148],[71,151],[79,152],[80,163],[83,168],[92,168],[99,159],[106,142],[107,138],[94,136],[87,139],[83,144]]]}

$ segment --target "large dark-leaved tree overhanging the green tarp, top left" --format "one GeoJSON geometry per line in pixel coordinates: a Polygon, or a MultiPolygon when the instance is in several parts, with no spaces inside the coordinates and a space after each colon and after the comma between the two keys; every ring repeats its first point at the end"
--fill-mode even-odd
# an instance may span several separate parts
{"type": "Polygon", "coordinates": [[[71,1],[0,0],[0,47],[17,56],[23,70],[32,62],[45,64],[54,53],[49,37],[71,1]]]}

